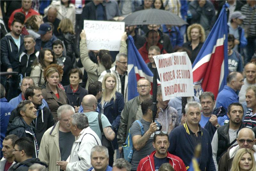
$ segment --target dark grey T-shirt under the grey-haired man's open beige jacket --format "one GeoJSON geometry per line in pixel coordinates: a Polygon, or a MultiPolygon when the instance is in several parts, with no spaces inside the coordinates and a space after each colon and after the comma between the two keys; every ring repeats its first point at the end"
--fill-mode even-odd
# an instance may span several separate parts
{"type": "Polygon", "coordinates": [[[73,143],[75,141],[75,136],[71,132],[61,132],[59,131],[59,146],[60,146],[60,156],[61,161],[66,161],[70,155],[73,143]]]}

